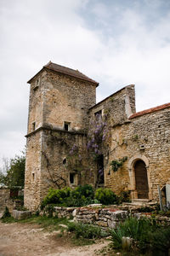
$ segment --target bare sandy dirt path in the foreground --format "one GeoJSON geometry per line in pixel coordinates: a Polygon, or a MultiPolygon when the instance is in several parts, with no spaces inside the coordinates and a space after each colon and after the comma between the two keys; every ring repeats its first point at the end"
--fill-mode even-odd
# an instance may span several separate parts
{"type": "MultiPolygon", "coordinates": [[[[67,236],[48,232],[35,224],[0,223],[0,256],[93,256],[108,241],[73,247],[67,236]]],[[[99,254],[98,254],[99,255],[99,254]]]]}

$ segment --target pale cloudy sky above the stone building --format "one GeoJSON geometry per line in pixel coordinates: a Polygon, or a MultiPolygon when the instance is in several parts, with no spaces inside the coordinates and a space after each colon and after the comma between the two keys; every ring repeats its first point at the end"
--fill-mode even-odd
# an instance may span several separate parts
{"type": "Polygon", "coordinates": [[[169,0],[0,0],[0,166],[26,144],[29,84],[48,61],[136,86],[137,111],[170,102],[169,0]]]}

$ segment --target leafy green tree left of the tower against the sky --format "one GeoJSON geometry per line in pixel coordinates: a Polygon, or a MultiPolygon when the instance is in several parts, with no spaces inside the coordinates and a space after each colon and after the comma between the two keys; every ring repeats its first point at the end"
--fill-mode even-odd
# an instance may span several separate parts
{"type": "Polygon", "coordinates": [[[0,172],[0,183],[8,186],[8,188],[21,187],[24,188],[25,182],[25,165],[26,155],[16,155],[14,159],[9,161],[5,167],[5,173],[0,172]]]}

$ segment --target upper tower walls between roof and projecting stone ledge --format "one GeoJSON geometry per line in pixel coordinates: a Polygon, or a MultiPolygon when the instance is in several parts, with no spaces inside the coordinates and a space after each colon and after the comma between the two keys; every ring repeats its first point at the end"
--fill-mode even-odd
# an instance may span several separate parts
{"type": "Polygon", "coordinates": [[[70,131],[88,127],[88,108],[95,104],[96,84],[52,71],[43,71],[31,82],[28,133],[33,123],[70,131]]]}

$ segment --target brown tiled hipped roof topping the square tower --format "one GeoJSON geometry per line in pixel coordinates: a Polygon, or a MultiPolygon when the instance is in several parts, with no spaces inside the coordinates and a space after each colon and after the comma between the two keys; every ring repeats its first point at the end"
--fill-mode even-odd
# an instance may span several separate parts
{"type": "MultiPolygon", "coordinates": [[[[57,73],[64,73],[64,74],[69,75],[71,77],[91,82],[91,83],[95,84],[96,86],[99,85],[98,82],[94,81],[93,79],[88,78],[86,75],[79,72],[78,70],[71,69],[69,67],[64,67],[64,66],[61,66],[59,64],[55,64],[51,61],[49,61],[47,65],[43,66],[42,69],[38,73],[40,73],[43,69],[49,69],[49,70],[52,70],[52,71],[57,72],[57,73]]],[[[34,79],[37,76],[37,74],[28,81],[29,84],[31,83],[31,80],[34,79]]]]}

